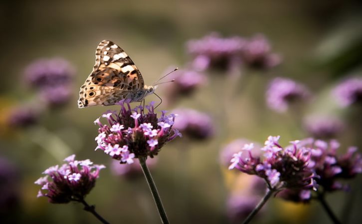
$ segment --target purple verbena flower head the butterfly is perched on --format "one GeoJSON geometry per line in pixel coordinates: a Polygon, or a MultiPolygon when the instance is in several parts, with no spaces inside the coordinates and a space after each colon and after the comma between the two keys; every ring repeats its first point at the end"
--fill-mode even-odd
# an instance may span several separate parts
{"type": "Polygon", "coordinates": [[[107,112],[102,115],[107,124],[102,124],[99,118],[94,121],[99,125],[98,136],[95,138],[102,150],[120,163],[133,163],[134,158],[153,158],[162,146],[181,134],[172,129],[175,115],[166,115],[162,111],[158,116],[153,102],[145,107],[131,109],[129,101],[120,101],[119,112],[107,112]],[[147,112],[146,112],[147,110],[147,112]]]}

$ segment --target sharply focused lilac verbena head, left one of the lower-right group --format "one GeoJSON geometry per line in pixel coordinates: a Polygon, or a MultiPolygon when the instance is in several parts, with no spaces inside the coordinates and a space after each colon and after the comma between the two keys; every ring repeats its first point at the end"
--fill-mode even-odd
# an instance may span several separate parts
{"type": "Polygon", "coordinates": [[[280,136],[269,136],[263,158],[252,155],[253,145],[246,144],[234,154],[229,169],[238,169],[243,173],[263,178],[269,188],[282,189],[316,189],[316,174],[309,168],[311,152],[306,147],[298,147],[298,141],[283,148],[279,145],[280,136]]]}

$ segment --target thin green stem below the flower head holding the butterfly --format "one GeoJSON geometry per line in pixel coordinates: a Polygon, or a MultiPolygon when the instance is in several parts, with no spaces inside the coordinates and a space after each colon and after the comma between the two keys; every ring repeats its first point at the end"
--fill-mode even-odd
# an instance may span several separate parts
{"type": "Polygon", "coordinates": [[[162,202],[161,202],[160,195],[158,194],[156,185],[153,182],[151,173],[148,170],[148,167],[147,167],[147,164],[146,164],[146,158],[140,157],[138,159],[139,159],[139,163],[141,164],[143,174],[144,174],[144,176],[145,176],[145,178],[147,180],[148,187],[150,188],[153,199],[154,199],[154,201],[156,203],[156,207],[157,207],[158,213],[160,214],[162,223],[163,224],[169,224],[165,209],[163,208],[163,205],[162,205],[162,202]]]}

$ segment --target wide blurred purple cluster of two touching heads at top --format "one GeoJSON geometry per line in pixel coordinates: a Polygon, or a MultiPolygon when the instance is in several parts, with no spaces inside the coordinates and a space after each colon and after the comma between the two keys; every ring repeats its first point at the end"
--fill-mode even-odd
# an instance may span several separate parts
{"type": "Polygon", "coordinates": [[[241,64],[272,68],[281,62],[280,56],[271,52],[269,42],[262,35],[248,40],[240,36],[223,38],[218,33],[211,33],[201,39],[190,40],[187,50],[194,57],[193,67],[198,70],[230,70],[241,64]]]}

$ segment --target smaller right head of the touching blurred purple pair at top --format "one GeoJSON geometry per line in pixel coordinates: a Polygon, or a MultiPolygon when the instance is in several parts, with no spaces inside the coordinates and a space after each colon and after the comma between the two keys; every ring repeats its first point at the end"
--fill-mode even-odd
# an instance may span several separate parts
{"type": "Polygon", "coordinates": [[[271,52],[268,40],[261,34],[255,35],[243,47],[244,64],[253,68],[269,69],[281,63],[279,54],[271,52]]]}

